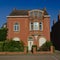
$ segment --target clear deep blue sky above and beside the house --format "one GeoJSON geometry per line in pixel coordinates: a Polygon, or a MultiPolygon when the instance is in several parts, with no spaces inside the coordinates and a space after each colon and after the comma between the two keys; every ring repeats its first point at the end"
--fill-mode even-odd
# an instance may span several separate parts
{"type": "Polygon", "coordinates": [[[0,0],[0,27],[7,21],[6,16],[10,14],[13,8],[16,9],[43,9],[46,7],[51,15],[50,26],[53,20],[57,20],[60,10],[60,0],[0,0]]]}

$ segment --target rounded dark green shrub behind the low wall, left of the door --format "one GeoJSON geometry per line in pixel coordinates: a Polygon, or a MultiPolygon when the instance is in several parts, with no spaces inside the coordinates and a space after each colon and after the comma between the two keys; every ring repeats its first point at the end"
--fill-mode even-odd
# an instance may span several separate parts
{"type": "Polygon", "coordinates": [[[3,44],[3,51],[9,51],[9,52],[18,52],[18,51],[24,51],[24,45],[22,42],[19,41],[7,41],[3,44]]]}

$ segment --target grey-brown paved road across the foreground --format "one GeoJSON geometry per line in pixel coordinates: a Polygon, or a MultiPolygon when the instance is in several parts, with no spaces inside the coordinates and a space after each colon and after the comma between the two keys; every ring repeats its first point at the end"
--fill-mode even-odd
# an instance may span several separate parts
{"type": "Polygon", "coordinates": [[[0,60],[60,60],[60,53],[55,54],[27,54],[27,55],[0,55],[0,60]]]}

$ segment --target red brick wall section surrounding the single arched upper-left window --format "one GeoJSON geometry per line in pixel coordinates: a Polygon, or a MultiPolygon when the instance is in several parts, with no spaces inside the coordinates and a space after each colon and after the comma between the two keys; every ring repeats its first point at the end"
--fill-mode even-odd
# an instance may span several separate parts
{"type": "Polygon", "coordinates": [[[24,43],[27,42],[28,36],[28,18],[7,18],[7,28],[8,28],[8,39],[13,39],[14,37],[20,38],[24,43]],[[20,24],[20,31],[14,32],[13,25],[14,23],[20,24]]]}

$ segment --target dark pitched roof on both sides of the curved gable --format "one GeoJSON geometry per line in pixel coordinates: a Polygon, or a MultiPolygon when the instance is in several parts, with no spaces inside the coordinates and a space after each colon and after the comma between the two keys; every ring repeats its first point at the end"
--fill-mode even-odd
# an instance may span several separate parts
{"type": "MultiPolygon", "coordinates": [[[[16,10],[16,9],[14,9],[14,10],[9,14],[9,16],[28,15],[28,11],[30,11],[30,10],[16,10]]],[[[46,10],[42,10],[42,11],[44,11],[44,15],[48,15],[48,13],[47,13],[46,10]]]]}

